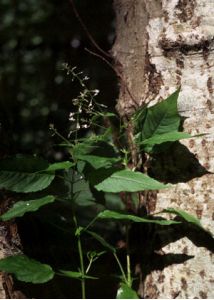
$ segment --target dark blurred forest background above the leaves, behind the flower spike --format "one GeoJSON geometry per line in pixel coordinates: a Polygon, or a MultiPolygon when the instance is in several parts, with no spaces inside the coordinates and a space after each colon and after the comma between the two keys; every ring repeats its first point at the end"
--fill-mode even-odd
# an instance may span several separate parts
{"type": "MultiPolygon", "coordinates": [[[[111,0],[74,1],[88,32],[108,51],[115,38],[111,0]]],[[[72,99],[80,86],[66,75],[63,63],[90,77],[97,98],[115,106],[114,71],[85,48],[99,51],[76,18],[69,0],[0,1],[0,139],[1,153],[54,156],[49,124],[69,133],[72,99]]],[[[99,53],[100,54],[100,53],[99,53]]],[[[111,62],[111,59],[108,59],[111,62]]]]}

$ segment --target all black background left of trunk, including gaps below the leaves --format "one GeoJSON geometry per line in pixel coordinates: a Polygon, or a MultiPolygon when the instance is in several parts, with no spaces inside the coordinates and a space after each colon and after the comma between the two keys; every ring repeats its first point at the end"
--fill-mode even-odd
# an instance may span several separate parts
{"type": "MultiPolygon", "coordinates": [[[[74,3],[88,32],[108,52],[115,39],[112,1],[74,3]]],[[[49,124],[67,137],[72,99],[81,89],[63,70],[63,63],[76,66],[90,77],[88,88],[100,90],[97,101],[114,110],[118,94],[115,72],[85,48],[101,54],[75,16],[69,0],[0,1],[0,157],[25,153],[49,160],[64,159],[61,149],[53,146],[61,141],[51,135],[49,124]]],[[[112,62],[108,56],[105,58],[112,62]]],[[[55,222],[56,215],[64,214],[69,211],[59,204],[26,214],[17,219],[19,234],[26,255],[56,268],[71,265],[77,270],[78,254],[72,234],[48,223],[48,220],[55,222]]],[[[101,280],[89,283],[88,297],[115,297],[118,278],[115,281],[108,276],[115,272],[111,260],[107,255],[96,263],[94,275],[101,280]]],[[[16,282],[16,288],[28,298],[81,297],[80,282],[60,276],[44,285],[16,282]]]]}

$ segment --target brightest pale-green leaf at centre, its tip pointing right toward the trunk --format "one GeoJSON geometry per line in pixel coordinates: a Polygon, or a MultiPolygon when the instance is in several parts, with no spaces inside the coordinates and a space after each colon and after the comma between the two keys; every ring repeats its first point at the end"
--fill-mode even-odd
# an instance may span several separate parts
{"type": "Polygon", "coordinates": [[[108,193],[159,190],[168,187],[169,185],[164,185],[143,173],[134,172],[129,169],[115,172],[101,183],[95,185],[98,191],[108,193]]]}

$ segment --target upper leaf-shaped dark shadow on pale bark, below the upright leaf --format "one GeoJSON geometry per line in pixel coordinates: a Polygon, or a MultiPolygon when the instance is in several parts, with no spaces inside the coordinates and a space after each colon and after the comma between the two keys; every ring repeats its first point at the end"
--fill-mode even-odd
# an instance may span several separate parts
{"type": "Polygon", "coordinates": [[[148,169],[151,177],[173,184],[187,182],[209,173],[196,156],[179,142],[159,145],[152,155],[148,169]]]}

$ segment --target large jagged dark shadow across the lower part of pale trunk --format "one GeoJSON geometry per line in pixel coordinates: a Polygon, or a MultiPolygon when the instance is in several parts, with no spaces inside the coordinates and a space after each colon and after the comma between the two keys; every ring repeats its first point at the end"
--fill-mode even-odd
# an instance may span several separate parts
{"type": "MultiPolygon", "coordinates": [[[[179,218],[176,218],[176,220],[179,220],[179,218]]],[[[145,278],[154,270],[161,271],[170,265],[182,264],[194,258],[191,253],[188,253],[187,247],[184,247],[182,253],[176,254],[165,254],[161,250],[166,245],[184,237],[187,237],[197,247],[205,247],[212,253],[214,252],[214,238],[212,235],[193,224],[182,223],[167,227],[134,224],[132,228],[133,244],[135,245],[133,251],[136,259],[134,265],[140,263],[145,278]],[[139,237],[139,234],[142,238],[139,237]],[[136,235],[138,235],[138,238],[136,235]]]]}

